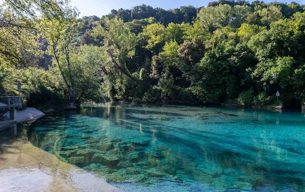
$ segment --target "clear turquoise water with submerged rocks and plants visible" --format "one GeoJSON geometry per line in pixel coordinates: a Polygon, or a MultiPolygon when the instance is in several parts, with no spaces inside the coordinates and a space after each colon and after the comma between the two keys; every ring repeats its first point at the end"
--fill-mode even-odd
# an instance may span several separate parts
{"type": "Polygon", "coordinates": [[[305,191],[301,112],[87,105],[42,118],[27,135],[130,191],[305,191]]]}

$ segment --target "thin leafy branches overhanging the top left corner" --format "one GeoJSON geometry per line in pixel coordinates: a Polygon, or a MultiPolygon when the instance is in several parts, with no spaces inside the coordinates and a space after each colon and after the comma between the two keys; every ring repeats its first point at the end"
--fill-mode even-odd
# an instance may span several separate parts
{"type": "Polygon", "coordinates": [[[0,57],[15,65],[37,64],[38,15],[62,17],[66,0],[4,0],[0,9],[0,57]]]}

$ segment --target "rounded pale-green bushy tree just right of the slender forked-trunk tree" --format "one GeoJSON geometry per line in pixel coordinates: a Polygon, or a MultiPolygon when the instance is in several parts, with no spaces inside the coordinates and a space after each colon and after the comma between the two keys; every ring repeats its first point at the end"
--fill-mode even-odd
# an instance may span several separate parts
{"type": "Polygon", "coordinates": [[[111,71],[106,51],[97,46],[80,46],[71,54],[71,63],[77,101],[104,102],[101,82],[107,82],[111,71]]]}

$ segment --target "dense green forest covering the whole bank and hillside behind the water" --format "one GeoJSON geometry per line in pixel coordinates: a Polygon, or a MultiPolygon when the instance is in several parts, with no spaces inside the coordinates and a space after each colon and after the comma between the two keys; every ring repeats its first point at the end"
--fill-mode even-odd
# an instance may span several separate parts
{"type": "Polygon", "coordinates": [[[305,105],[305,6],[218,1],[78,18],[66,0],[5,0],[0,93],[81,102],[305,105]],[[22,90],[17,91],[17,82],[22,90]]]}

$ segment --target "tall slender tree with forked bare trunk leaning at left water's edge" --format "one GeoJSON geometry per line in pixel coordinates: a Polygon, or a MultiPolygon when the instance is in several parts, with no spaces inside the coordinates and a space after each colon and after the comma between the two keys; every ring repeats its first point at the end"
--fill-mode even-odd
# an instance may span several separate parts
{"type": "Polygon", "coordinates": [[[75,77],[71,66],[71,52],[74,49],[73,43],[79,27],[76,22],[76,16],[77,13],[71,10],[64,18],[50,19],[44,17],[38,26],[44,39],[49,44],[48,53],[53,56],[69,92],[69,104],[67,105],[69,109],[76,108],[75,101],[77,98],[75,77]]]}

